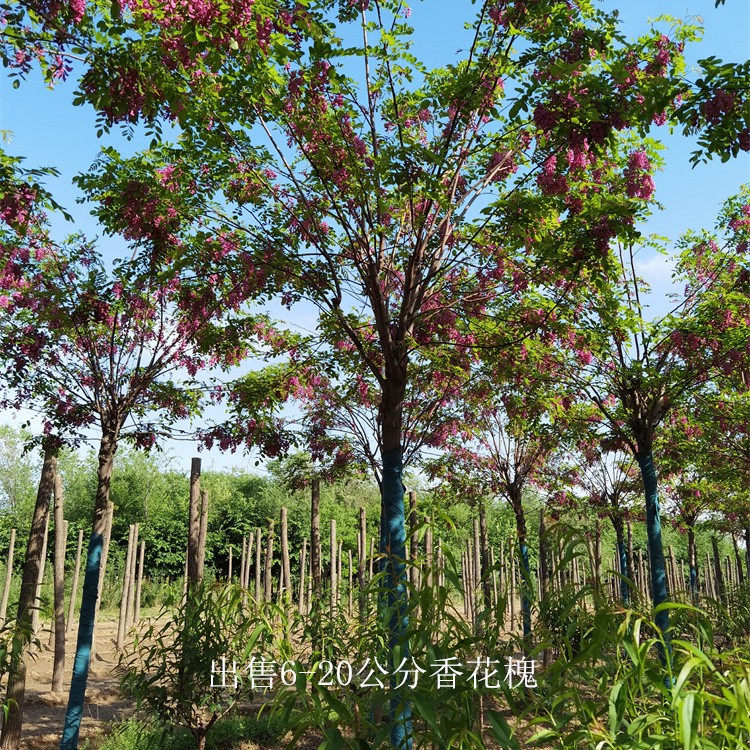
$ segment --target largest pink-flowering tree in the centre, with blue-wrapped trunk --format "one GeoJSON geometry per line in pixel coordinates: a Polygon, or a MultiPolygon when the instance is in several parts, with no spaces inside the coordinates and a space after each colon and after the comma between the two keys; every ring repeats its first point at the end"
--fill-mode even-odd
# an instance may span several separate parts
{"type": "MultiPolygon", "coordinates": [[[[632,232],[643,198],[624,189],[643,170],[615,135],[645,132],[668,108],[693,32],[628,44],[588,6],[485,2],[463,59],[428,70],[400,3],[341,6],[338,24],[335,7],[255,17],[245,6],[131,4],[132,34],[97,58],[83,92],[103,127],[168,118],[181,143],[108,152],[82,184],[113,230],[133,231],[135,215],[155,224],[169,206],[159,214],[169,232],[145,236],[141,221],[144,242],[210,277],[250,271],[284,303],[316,306],[322,346],[354,347],[376,384],[395,646],[406,628],[410,373],[435,351],[466,369],[466,321],[490,302],[500,313],[535,283],[560,295],[571,264],[578,283],[610,267],[608,242],[632,232]],[[206,257],[189,239],[210,232],[224,242],[206,257]]],[[[394,745],[409,732],[399,704],[394,745]]]]}

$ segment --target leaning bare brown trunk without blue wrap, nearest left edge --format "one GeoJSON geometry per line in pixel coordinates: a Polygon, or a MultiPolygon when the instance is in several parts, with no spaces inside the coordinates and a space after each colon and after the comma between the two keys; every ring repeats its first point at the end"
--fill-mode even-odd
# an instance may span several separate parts
{"type": "Polygon", "coordinates": [[[57,470],[57,449],[47,444],[44,449],[42,475],[31,520],[29,541],[26,547],[26,559],[23,564],[21,593],[18,599],[18,611],[13,628],[13,644],[10,666],[8,669],[8,686],[5,693],[7,715],[3,722],[0,747],[3,750],[18,750],[21,742],[23,725],[23,706],[26,693],[26,659],[28,646],[32,637],[32,610],[37,594],[37,581],[42,564],[42,547],[44,546],[44,529],[49,518],[49,503],[52,495],[55,472],[57,470]]]}

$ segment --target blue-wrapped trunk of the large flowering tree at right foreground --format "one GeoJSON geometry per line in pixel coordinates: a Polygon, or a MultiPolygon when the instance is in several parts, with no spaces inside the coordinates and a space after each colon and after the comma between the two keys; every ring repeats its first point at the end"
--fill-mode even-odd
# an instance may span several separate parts
{"type": "MultiPolygon", "coordinates": [[[[648,551],[651,568],[651,591],[653,592],[654,607],[663,604],[669,598],[667,589],[667,571],[664,564],[664,547],[661,539],[661,515],[659,512],[659,493],[654,468],[654,457],[651,451],[637,456],[641,469],[643,490],[646,496],[646,534],[648,537],[648,551]]],[[[654,615],[654,622],[659,628],[662,644],[659,644],[659,656],[666,665],[671,657],[669,636],[669,610],[662,609],[654,615]]]]}

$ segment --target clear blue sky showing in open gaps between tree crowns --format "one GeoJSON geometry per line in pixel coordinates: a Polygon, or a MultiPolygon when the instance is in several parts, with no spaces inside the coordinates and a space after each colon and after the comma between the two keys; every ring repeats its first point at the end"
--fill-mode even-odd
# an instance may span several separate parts
{"type": "MultiPolygon", "coordinates": [[[[727,0],[719,8],[714,8],[713,0],[621,0],[619,3],[606,0],[601,5],[607,10],[619,10],[624,32],[629,36],[643,33],[648,27],[647,19],[655,11],[681,19],[702,17],[704,39],[686,50],[691,64],[710,55],[731,61],[750,58],[750,5],[746,0],[727,0]]],[[[466,38],[463,23],[471,17],[476,6],[468,0],[425,0],[413,2],[412,7],[417,55],[428,65],[457,59],[457,50],[466,38]]],[[[71,179],[89,166],[105,141],[99,141],[95,136],[95,117],[91,109],[72,106],[73,90],[71,81],[50,91],[36,74],[32,74],[19,89],[13,89],[9,79],[0,77],[0,130],[12,132],[12,141],[5,144],[5,149],[25,156],[27,166],[55,166],[59,169],[60,178],[50,180],[49,187],[57,200],[74,215],[76,228],[94,235],[97,233],[96,224],[85,206],[75,204],[77,193],[71,179]]],[[[675,238],[688,228],[713,225],[721,203],[736,193],[741,184],[750,182],[750,158],[743,154],[727,164],[714,160],[692,168],[689,163],[690,141],[679,135],[670,137],[662,130],[659,136],[666,146],[666,166],[656,176],[656,196],[664,210],[655,214],[643,230],[675,238]]],[[[114,131],[109,140],[126,149],[144,145],[137,141],[125,144],[114,131]]],[[[71,231],[72,227],[60,224],[58,229],[64,233],[71,231]]],[[[109,243],[108,249],[113,255],[119,254],[123,247],[115,240],[104,242],[109,243]]],[[[664,294],[670,288],[668,261],[661,256],[644,255],[640,270],[652,284],[654,309],[660,309],[664,305],[664,294]]],[[[310,322],[314,325],[313,321],[310,322]]],[[[174,446],[178,459],[184,460],[186,467],[193,450],[189,444],[174,446]]],[[[222,456],[218,451],[209,454],[207,463],[210,465],[212,461],[217,468],[253,465],[252,459],[242,459],[239,455],[222,456]]]]}

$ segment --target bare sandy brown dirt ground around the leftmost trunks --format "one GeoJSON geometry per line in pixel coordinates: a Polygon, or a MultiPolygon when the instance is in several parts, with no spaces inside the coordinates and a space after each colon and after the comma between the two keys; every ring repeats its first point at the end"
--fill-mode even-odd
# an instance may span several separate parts
{"type": "MultiPolygon", "coordinates": [[[[73,671],[73,655],[76,647],[76,628],[73,628],[65,644],[65,684],[62,693],[53,693],[52,650],[49,641],[49,623],[43,623],[40,632],[41,651],[29,660],[26,678],[26,705],[23,715],[23,750],[53,750],[60,742],[65,708],[68,702],[70,677],[73,671]]],[[[86,689],[86,704],[81,722],[80,745],[86,740],[95,748],[112,724],[132,714],[133,705],[123,700],[117,690],[117,652],[115,639],[117,623],[103,622],[96,626],[96,652],[89,671],[86,689]]]]}

